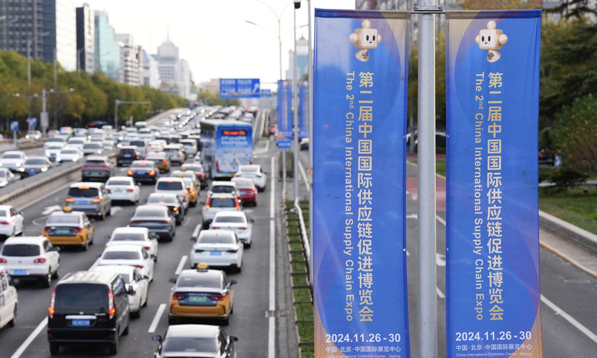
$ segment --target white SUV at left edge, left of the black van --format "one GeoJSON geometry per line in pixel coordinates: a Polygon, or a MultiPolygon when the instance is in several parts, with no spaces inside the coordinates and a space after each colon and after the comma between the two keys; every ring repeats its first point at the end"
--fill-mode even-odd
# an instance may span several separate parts
{"type": "Polygon", "coordinates": [[[38,281],[48,288],[60,276],[60,248],[44,236],[9,237],[2,245],[0,265],[20,281],[38,281]]]}

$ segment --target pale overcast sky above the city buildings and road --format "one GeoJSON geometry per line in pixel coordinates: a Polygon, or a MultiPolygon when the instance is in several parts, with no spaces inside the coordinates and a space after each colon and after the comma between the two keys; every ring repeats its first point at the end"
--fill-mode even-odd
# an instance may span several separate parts
{"type": "MultiPolygon", "coordinates": [[[[75,0],[92,10],[106,10],[116,33],[130,33],[136,45],[155,54],[170,40],[180,57],[189,61],[193,81],[211,78],[260,78],[275,82],[279,77],[278,21],[272,10],[255,0],[75,0]],[[169,16],[168,16],[169,14],[169,16]],[[169,21],[168,21],[169,18],[169,21]],[[257,27],[245,20],[257,23],[257,27]]],[[[288,0],[263,0],[280,16],[288,0]]],[[[353,9],[355,0],[312,0],[312,9],[353,9]]],[[[293,5],[282,14],[282,76],[288,69],[288,50],[293,42],[293,5]]],[[[311,16],[315,13],[311,12],[311,16]]],[[[313,21],[313,19],[312,19],[313,21]]],[[[307,2],[297,11],[297,27],[307,24],[307,2]]],[[[314,24],[313,24],[313,27],[314,24]]],[[[312,29],[314,30],[314,29],[312,29]]],[[[307,37],[307,27],[297,29],[297,38],[307,37]]],[[[263,88],[275,88],[263,84],[263,88]]]]}

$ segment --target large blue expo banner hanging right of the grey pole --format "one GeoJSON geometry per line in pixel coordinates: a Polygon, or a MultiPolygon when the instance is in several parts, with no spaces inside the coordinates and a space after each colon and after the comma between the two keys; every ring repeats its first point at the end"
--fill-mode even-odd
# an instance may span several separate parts
{"type": "Polygon", "coordinates": [[[448,357],[541,357],[541,10],[446,22],[448,357]]]}

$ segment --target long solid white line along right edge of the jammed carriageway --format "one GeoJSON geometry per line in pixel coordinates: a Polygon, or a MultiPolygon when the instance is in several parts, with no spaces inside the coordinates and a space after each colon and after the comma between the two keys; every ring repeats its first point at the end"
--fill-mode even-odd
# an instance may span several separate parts
{"type": "MultiPolygon", "coordinates": [[[[272,157],[272,173],[276,172],[276,158],[272,157]]],[[[271,176],[270,201],[269,201],[269,311],[276,310],[276,232],[275,232],[275,175],[271,176]]],[[[270,316],[267,332],[267,358],[276,357],[276,317],[270,316]]]]}

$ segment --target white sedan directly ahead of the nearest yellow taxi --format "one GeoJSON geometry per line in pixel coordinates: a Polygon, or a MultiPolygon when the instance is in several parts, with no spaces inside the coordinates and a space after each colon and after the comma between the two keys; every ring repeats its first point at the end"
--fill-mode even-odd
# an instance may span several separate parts
{"type": "Polygon", "coordinates": [[[244,246],[233,231],[202,230],[190,251],[191,266],[194,269],[198,263],[206,263],[241,272],[244,246]]]}

